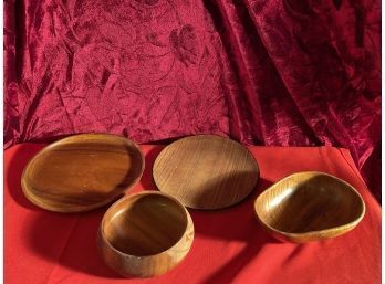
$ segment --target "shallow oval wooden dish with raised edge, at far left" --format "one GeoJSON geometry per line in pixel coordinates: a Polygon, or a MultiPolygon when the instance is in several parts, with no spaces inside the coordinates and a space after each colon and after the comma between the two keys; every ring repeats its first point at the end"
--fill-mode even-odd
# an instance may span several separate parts
{"type": "Polygon", "coordinates": [[[55,141],[27,165],[21,187],[34,204],[81,212],[123,196],[144,170],[139,147],[121,136],[81,134],[55,141]]]}

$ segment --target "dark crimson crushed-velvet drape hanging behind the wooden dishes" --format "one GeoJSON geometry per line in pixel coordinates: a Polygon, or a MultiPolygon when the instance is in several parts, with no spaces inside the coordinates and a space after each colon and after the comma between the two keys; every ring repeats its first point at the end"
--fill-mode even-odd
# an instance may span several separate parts
{"type": "Polygon", "coordinates": [[[378,0],[4,1],[4,143],[191,134],[351,150],[379,197],[378,0]]]}

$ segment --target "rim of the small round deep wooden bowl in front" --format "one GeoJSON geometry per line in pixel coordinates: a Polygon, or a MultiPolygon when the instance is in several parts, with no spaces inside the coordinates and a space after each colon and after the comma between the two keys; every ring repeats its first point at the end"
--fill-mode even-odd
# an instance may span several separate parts
{"type": "MultiPolygon", "coordinates": [[[[158,256],[158,255],[162,255],[168,251],[170,251],[174,246],[176,246],[185,236],[185,234],[189,231],[189,228],[192,227],[194,229],[194,223],[192,223],[192,220],[191,220],[191,217],[190,214],[188,213],[187,209],[174,197],[167,194],[167,193],[164,193],[164,192],[160,192],[160,191],[155,191],[155,190],[144,190],[144,191],[139,191],[139,192],[136,192],[136,193],[132,193],[132,194],[127,194],[121,199],[118,199],[117,201],[115,201],[108,209],[107,211],[105,211],[104,215],[103,215],[103,219],[101,221],[101,224],[98,227],[98,234],[102,236],[102,241],[104,244],[106,244],[111,250],[113,250],[115,253],[122,255],[122,256],[126,256],[126,257],[133,257],[133,259],[149,259],[149,257],[155,257],[155,256],[158,256]],[[132,198],[135,198],[135,197],[141,197],[141,196],[163,196],[165,198],[168,198],[170,200],[173,200],[178,207],[180,207],[180,209],[183,209],[183,213],[184,213],[184,217],[185,217],[185,228],[184,228],[184,231],[180,235],[180,238],[173,243],[171,246],[169,246],[168,249],[166,250],[163,250],[162,252],[158,252],[156,254],[149,254],[149,255],[135,255],[135,254],[129,254],[129,253],[125,253],[123,251],[119,251],[117,250],[110,241],[105,236],[104,234],[104,224],[106,222],[106,215],[108,212],[113,211],[119,203],[122,202],[125,202],[126,200],[128,199],[132,199],[132,198]]],[[[191,241],[192,242],[192,241],[191,241]]]]}

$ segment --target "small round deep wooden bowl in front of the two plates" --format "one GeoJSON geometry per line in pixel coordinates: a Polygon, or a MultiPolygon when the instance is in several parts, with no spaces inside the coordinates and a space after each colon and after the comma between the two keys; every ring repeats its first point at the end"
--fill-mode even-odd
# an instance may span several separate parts
{"type": "Polygon", "coordinates": [[[152,277],[189,252],[194,224],[186,208],[158,191],[127,196],[104,214],[97,246],[105,263],[126,277],[152,277]]]}

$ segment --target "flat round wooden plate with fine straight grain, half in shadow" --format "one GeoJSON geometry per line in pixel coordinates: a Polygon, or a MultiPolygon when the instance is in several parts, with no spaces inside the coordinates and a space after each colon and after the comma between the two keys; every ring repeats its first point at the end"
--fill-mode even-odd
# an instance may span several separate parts
{"type": "Polygon", "coordinates": [[[256,187],[259,167],[240,144],[198,135],[167,146],[153,168],[158,189],[195,209],[220,209],[244,199],[256,187]]]}

